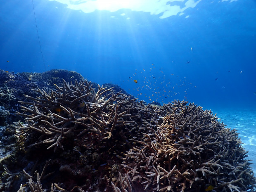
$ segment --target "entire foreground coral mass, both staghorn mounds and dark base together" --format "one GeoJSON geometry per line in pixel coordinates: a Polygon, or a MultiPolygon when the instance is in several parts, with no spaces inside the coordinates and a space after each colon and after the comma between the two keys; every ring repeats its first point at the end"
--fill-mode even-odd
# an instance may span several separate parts
{"type": "Polygon", "coordinates": [[[255,191],[236,130],[194,103],[146,104],[76,79],[32,91],[5,128],[16,139],[0,159],[1,190],[255,191]]]}

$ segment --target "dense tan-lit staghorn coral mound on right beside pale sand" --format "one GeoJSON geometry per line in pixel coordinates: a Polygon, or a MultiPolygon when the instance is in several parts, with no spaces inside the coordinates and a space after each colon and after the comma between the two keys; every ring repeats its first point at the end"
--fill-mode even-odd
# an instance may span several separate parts
{"type": "Polygon", "coordinates": [[[161,125],[137,141],[122,164],[145,191],[245,192],[255,186],[250,163],[235,130],[194,104],[164,105],[161,125]]]}

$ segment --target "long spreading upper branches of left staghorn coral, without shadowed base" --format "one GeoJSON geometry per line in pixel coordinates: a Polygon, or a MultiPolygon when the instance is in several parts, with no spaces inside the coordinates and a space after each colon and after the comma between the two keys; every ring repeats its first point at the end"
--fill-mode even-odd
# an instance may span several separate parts
{"type": "MultiPolygon", "coordinates": [[[[116,126],[125,125],[125,121],[120,121],[123,117],[126,119],[130,114],[126,111],[118,114],[120,105],[130,102],[128,96],[120,95],[120,92],[114,94],[110,89],[99,86],[97,92],[92,89],[91,82],[83,81],[75,84],[63,81],[62,87],[57,87],[58,91],[52,91],[49,95],[44,91],[34,90],[40,93],[40,97],[25,97],[33,102],[20,102],[21,104],[30,104],[33,108],[21,106],[21,108],[31,114],[21,114],[26,117],[27,127],[22,129],[36,130],[41,133],[44,140],[33,145],[41,143],[51,144],[47,149],[62,147],[63,137],[72,134],[78,136],[88,132],[94,133],[94,137],[100,140],[111,138],[116,126]],[[105,95],[104,95],[105,94],[105,95]],[[107,100],[105,100],[109,97],[107,100]],[[121,102],[123,99],[123,102],[121,102]],[[116,104],[119,103],[120,104],[116,104]],[[115,104],[113,104],[116,102],[115,104]],[[101,113],[105,109],[104,113],[101,113]]],[[[122,119],[123,120],[123,119],[122,119]]],[[[127,122],[129,123],[129,122],[127,122]]],[[[43,138],[42,137],[42,138],[43,138]]],[[[54,151],[55,151],[54,150],[54,151]]]]}

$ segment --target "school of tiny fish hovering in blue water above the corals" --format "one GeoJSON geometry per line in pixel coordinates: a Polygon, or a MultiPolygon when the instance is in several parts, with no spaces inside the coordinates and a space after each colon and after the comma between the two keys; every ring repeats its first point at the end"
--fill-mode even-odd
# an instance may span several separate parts
{"type": "MultiPolygon", "coordinates": [[[[158,68],[154,64],[151,64],[148,69],[145,68],[141,71],[136,69],[135,71],[128,81],[133,81],[139,85],[136,88],[132,88],[133,91],[137,92],[137,94],[134,92],[132,94],[137,95],[139,99],[145,100],[146,97],[149,102],[159,103],[166,102],[168,97],[178,95],[183,96],[184,100],[187,99],[187,90],[192,83],[187,83],[186,77],[180,78],[173,73],[166,74],[164,69],[158,68]],[[176,91],[177,88],[179,91],[176,91]]],[[[197,87],[194,86],[194,88],[197,87]]],[[[128,88],[128,90],[130,89],[128,88]]]]}

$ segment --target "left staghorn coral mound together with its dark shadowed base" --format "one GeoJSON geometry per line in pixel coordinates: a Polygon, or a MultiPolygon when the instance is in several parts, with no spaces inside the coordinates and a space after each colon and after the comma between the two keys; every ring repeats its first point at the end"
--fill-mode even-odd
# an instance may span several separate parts
{"type": "Polygon", "coordinates": [[[72,170],[69,174],[73,178],[83,177],[91,187],[100,179],[98,170],[108,178],[114,177],[115,171],[109,168],[121,163],[121,155],[131,148],[129,138],[140,137],[142,127],[153,123],[153,108],[114,93],[112,88],[98,86],[95,91],[87,81],[63,81],[56,88],[58,91],[52,90],[49,95],[39,88],[34,90],[39,97],[25,95],[33,102],[20,102],[25,113],[18,114],[26,117],[27,124],[20,125],[19,135],[27,135],[29,148],[47,145],[54,152],[64,150],[58,150],[58,154],[68,162],[57,162],[60,170],[71,168],[68,170],[72,170]],[[73,163],[77,160],[79,166],[73,163]]]}

